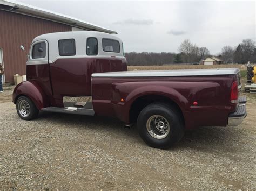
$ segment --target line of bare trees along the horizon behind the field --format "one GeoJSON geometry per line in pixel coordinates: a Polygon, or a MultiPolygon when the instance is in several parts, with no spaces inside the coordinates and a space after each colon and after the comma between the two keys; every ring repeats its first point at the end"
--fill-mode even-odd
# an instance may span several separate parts
{"type": "Polygon", "coordinates": [[[174,52],[129,52],[125,53],[129,66],[164,65],[175,63],[199,63],[207,57],[216,56],[224,63],[256,62],[256,47],[252,39],[244,39],[237,47],[224,46],[217,55],[212,55],[206,47],[198,47],[185,39],[174,52]]]}

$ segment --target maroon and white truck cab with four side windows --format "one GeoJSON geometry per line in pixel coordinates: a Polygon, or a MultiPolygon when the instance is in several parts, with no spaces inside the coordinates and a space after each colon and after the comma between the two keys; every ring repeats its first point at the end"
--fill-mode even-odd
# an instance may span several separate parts
{"type": "Polygon", "coordinates": [[[28,81],[63,107],[64,96],[91,96],[92,73],[126,71],[123,42],[103,32],[43,34],[33,39],[26,62],[28,81]]]}

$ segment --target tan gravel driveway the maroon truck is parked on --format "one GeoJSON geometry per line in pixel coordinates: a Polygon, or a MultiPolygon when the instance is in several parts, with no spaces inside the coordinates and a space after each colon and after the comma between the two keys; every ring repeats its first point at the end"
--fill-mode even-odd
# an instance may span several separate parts
{"type": "Polygon", "coordinates": [[[23,121],[11,93],[0,94],[0,189],[256,189],[253,100],[237,128],[200,128],[158,150],[116,119],[23,121]]]}

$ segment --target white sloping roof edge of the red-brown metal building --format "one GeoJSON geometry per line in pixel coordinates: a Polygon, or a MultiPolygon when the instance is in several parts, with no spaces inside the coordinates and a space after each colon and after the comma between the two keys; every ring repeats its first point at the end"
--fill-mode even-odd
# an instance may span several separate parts
{"type": "Polygon", "coordinates": [[[104,27],[97,26],[89,22],[85,22],[84,20],[80,20],[74,17],[70,17],[46,9],[37,8],[36,6],[17,2],[14,0],[0,0],[0,9],[24,15],[29,15],[32,17],[38,17],[46,20],[52,20],[54,22],[63,23],[84,30],[101,31],[106,33],[117,34],[116,31],[105,29],[104,27]]]}

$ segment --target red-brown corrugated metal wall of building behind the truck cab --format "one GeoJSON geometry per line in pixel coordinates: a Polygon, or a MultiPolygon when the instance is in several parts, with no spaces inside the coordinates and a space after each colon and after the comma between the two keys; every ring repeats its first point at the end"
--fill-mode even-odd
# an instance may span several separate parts
{"type": "Polygon", "coordinates": [[[13,82],[13,75],[26,74],[26,53],[36,36],[50,32],[71,31],[71,26],[49,20],[0,10],[0,48],[3,48],[5,82],[13,82]]]}

